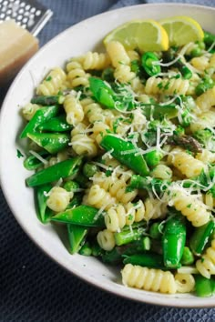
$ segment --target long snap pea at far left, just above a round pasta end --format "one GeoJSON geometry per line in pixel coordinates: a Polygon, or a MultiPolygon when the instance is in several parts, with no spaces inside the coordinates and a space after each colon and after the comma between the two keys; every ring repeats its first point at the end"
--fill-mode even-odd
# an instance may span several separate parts
{"type": "Polygon", "coordinates": [[[46,169],[42,169],[34,175],[26,178],[26,184],[27,186],[41,186],[57,181],[60,178],[73,176],[77,173],[81,163],[81,157],[74,157],[72,159],[59,162],[54,166],[48,166],[46,169]]]}

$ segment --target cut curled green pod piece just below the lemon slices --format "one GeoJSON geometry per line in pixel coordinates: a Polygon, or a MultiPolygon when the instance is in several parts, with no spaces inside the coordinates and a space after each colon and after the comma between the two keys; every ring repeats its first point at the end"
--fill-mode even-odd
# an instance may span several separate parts
{"type": "Polygon", "coordinates": [[[141,56],[141,65],[149,76],[158,75],[161,71],[159,58],[152,52],[146,52],[141,56]]]}

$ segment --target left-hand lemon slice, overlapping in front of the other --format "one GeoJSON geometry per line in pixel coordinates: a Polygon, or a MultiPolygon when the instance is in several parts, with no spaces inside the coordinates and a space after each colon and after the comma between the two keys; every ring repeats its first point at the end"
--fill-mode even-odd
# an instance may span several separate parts
{"type": "Polygon", "coordinates": [[[127,50],[138,48],[140,51],[162,51],[169,48],[169,38],[165,29],[158,22],[148,20],[129,21],[111,31],[104,39],[119,41],[127,50]]]}

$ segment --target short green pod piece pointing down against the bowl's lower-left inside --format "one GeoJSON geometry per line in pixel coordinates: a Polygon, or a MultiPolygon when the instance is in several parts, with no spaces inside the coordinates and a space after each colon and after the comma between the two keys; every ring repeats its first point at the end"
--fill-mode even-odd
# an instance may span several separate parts
{"type": "Polygon", "coordinates": [[[77,226],[67,224],[67,233],[69,240],[69,251],[71,254],[76,254],[87,236],[86,226],[77,226]]]}

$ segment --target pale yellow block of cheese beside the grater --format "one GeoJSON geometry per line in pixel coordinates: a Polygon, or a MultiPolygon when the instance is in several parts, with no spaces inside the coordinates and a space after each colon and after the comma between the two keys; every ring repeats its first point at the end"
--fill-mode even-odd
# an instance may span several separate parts
{"type": "Polygon", "coordinates": [[[38,40],[14,20],[0,24],[0,86],[4,86],[36,53],[38,40]]]}

